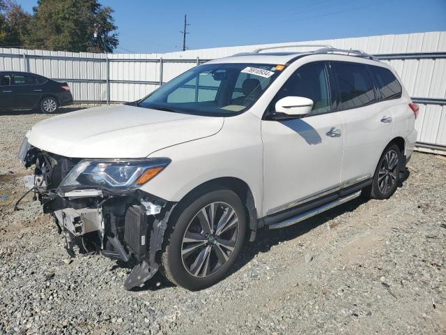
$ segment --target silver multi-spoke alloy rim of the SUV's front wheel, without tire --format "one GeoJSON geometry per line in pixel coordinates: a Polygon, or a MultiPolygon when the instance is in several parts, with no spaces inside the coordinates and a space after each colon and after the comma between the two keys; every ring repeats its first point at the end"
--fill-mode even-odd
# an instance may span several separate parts
{"type": "Polygon", "coordinates": [[[208,277],[229,261],[238,243],[236,211],[224,202],[207,204],[194,215],[181,243],[181,258],[194,277],[208,277]]]}

